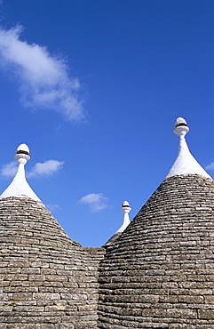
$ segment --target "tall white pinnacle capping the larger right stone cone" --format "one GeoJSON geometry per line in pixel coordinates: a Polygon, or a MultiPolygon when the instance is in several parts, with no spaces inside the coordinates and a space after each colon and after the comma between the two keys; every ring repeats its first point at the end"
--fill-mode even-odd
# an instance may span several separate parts
{"type": "Polygon", "coordinates": [[[174,133],[179,136],[179,149],[178,157],[166,178],[176,176],[176,175],[187,175],[187,174],[199,174],[201,176],[210,178],[210,175],[205,172],[202,166],[195,160],[194,156],[189,151],[186,144],[186,133],[189,132],[189,128],[186,125],[186,120],[182,117],[178,117],[175,123],[176,128],[174,133]]]}

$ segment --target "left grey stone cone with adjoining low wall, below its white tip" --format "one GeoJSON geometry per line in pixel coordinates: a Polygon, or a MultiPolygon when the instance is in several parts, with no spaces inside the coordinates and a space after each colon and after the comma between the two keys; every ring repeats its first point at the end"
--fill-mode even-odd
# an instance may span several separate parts
{"type": "Polygon", "coordinates": [[[32,199],[0,200],[0,328],[97,328],[103,248],[72,241],[32,199]]]}

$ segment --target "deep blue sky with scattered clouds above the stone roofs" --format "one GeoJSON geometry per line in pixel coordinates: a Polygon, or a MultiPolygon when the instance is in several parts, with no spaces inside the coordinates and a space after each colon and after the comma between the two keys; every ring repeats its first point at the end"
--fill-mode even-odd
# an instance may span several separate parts
{"type": "Polygon", "coordinates": [[[28,182],[69,237],[101,246],[186,140],[214,165],[213,0],[3,0],[0,193],[27,143],[28,182]]]}

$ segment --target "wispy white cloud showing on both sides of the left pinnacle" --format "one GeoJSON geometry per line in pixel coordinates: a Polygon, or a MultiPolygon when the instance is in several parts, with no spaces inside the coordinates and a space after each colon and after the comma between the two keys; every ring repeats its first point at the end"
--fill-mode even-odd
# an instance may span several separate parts
{"type": "MultiPolygon", "coordinates": [[[[58,160],[47,160],[44,163],[37,163],[31,169],[30,172],[26,173],[27,177],[38,177],[38,176],[51,176],[61,169],[63,161],[58,160]]],[[[10,164],[5,164],[1,170],[1,176],[3,177],[14,177],[17,172],[17,163],[12,161],[10,164]]]]}

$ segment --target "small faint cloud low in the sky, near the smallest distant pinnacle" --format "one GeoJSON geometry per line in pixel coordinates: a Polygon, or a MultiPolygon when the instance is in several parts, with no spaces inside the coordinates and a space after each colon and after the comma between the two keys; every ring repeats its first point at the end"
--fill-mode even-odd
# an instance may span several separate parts
{"type": "Polygon", "coordinates": [[[107,197],[104,197],[102,193],[87,194],[87,196],[81,197],[79,202],[89,205],[92,213],[99,212],[108,206],[107,197]]]}

